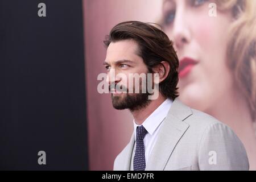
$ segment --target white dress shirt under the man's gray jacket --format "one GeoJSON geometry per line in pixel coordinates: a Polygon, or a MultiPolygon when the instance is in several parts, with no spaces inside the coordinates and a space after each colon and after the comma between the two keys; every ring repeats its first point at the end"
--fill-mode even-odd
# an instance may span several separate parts
{"type": "MultiPolygon", "coordinates": [[[[170,110],[172,105],[172,100],[167,98],[156,110],[154,110],[153,113],[150,114],[150,116],[147,117],[147,119],[142,123],[144,128],[147,130],[147,134],[144,137],[144,149],[145,149],[145,160],[146,160],[146,165],[148,158],[151,154],[152,148],[155,145],[156,139],[158,137],[159,129],[161,127],[161,124],[166,118],[168,111],[170,110]]],[[[135,141],[136,141],[136,129],[137,125],[135,121],[133,120],[134,123],[134,135],[135,135],[135,141]]],[[[135,147],[134,147],[134,152],[135,152],[135,147]]]]}

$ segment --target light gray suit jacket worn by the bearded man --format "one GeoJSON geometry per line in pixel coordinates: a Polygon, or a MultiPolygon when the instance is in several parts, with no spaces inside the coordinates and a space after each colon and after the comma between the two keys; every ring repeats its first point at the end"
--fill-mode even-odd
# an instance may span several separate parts
{"type": "MultiPolygon", "coordinates": [[[[134,134],[115,158],[114,170],[130,170],[134,134]]],[[[146,170],[248,170],[241,140],[212,116],[191,109],[178,98],[159,131],[146,170]]]]}

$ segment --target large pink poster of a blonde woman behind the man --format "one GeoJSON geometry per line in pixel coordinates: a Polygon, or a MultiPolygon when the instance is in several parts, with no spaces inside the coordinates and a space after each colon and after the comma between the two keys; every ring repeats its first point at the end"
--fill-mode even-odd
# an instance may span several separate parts
{"type": "Polygon", "coordinates": [[[114,110],[96,90],[97,75],[105,72],[102,41],[125,20],[159,24],[179,57],[179,99],[231,127],[256,169],[255,9],[251,0],[85,0],[90,169],[112,169],[133,133],[129,111],[114,110]]]}

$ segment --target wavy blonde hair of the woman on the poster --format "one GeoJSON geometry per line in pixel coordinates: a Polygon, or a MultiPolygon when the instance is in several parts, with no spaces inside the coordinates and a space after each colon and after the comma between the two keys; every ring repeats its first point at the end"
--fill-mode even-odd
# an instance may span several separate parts
{"type": "Polygon", "coordinates": [[[220,11],[231,10],[228,65],[249,104],[253,121],[256,118],[256,1],[216,0],[220,11]]]}

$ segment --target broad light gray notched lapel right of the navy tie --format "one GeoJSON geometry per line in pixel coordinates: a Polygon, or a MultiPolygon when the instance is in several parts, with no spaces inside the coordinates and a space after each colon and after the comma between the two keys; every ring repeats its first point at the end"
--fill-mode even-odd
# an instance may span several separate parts
{"type": "Polygon", "coordinates": [[[158,139],[152,149],[146,170],[163,170],[177,142],[187,131],[189,125],[184,121],[192,115],[190,107],[182,104],[177,98],[172,103],[167,117],[159,131],[158,139]]]}

